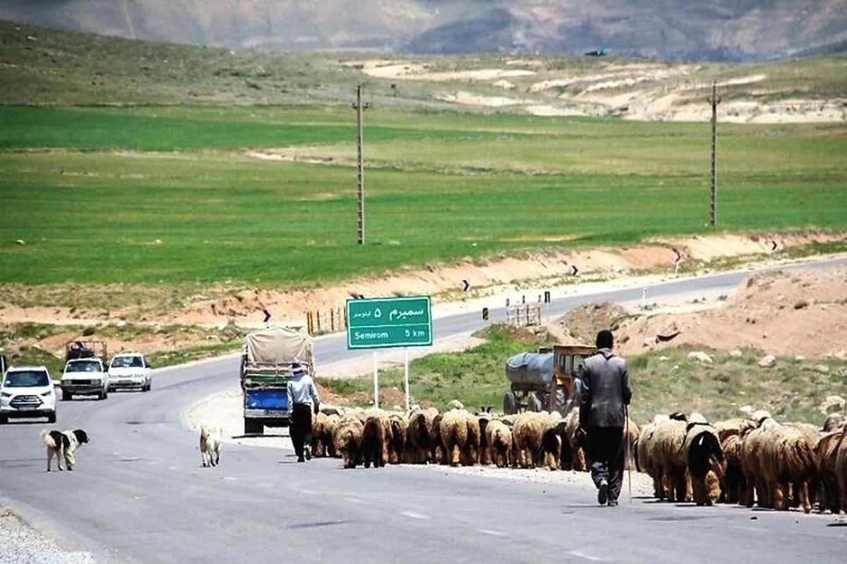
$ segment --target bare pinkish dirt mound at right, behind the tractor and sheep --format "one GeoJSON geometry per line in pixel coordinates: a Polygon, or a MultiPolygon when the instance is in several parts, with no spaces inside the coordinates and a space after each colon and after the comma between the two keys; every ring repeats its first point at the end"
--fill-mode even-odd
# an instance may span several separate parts
{"type": "Polygon", "coordinates": [[[612,328],[624,355],[687,345],[807,358],[847,358],[847,269],[750,277],[726,297],[687,304],[675,313],[588,304],[552,324],[551,331],[577,342],[593,342],[612,328]],[[708,309],[702,309],[706,306],[708,309]]]}

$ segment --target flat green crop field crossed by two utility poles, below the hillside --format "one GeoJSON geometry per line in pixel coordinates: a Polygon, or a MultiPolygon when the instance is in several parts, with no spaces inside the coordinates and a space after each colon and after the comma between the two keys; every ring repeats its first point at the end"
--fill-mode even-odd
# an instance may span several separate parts
{"type": "MultiPolygon", "coordinates": [[[[315,286],[710,230],[706,124],[371,109],[359,247],[346,108],[0,107],[0,123],[0,282],[315,286]]],[[[720,230],[847,227],[847,126],[721,134],[720,230]]]]}

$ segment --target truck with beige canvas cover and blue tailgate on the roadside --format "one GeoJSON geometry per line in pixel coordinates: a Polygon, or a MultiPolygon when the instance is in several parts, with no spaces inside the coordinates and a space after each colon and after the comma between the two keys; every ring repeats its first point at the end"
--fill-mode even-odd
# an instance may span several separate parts
{"type": "Polygon", "coordinates": [[[313,374],[313,367],[312,337],[275,326],[249,333],[241,354],[244,434],[288,426],[288,381],[295,369],[313,374]]]}

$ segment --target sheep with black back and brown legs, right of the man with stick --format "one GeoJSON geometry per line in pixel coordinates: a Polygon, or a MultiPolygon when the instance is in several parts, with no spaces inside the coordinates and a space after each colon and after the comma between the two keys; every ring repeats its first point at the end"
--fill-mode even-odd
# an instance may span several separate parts
{"type": "Polygon", "coordinates": [[[721,495],[718,477],[724,475],[724,456],[717,430],[699,413],[685,426],[684,453],[695,503],[711,506],[721,495]]]}

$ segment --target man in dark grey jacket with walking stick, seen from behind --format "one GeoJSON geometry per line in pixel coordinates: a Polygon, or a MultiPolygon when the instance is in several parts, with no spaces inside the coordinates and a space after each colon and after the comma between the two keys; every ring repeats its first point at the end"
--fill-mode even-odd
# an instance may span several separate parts
{"type": "Polygon", "coordinates": [[[617,506],[623,483],[623,427],[633,392],[629,387],[627,361],[612,353],[612,331],[597,333],[597,353],[585,359],[579,426],[586,433],[585,454],[591,479],[597,486],[597,502],[617,506]]]}

